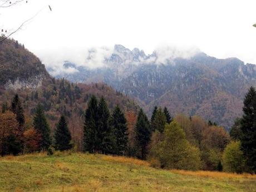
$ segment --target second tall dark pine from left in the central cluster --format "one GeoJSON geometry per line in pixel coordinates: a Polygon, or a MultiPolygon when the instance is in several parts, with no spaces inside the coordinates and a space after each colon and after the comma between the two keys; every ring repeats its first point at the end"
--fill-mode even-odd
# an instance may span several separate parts
{"type": "Polygon", "coordinates": [[[98,106],[98,129],[97,129],[97,150],[102,154],[114,152],[115,137],[110,122],[110,112],[106,100],[101,97],[98,106]]]}

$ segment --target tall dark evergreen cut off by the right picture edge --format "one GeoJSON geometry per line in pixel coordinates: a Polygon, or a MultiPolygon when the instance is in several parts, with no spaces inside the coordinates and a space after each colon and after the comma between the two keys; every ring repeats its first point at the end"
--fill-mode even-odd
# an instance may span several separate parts
{"type": "Polygon", "coordinates": [[[247,166],[256,173],[256,91],[250,87],[245,95],[241,119],[241,147],[247,159],[247,166]]]}

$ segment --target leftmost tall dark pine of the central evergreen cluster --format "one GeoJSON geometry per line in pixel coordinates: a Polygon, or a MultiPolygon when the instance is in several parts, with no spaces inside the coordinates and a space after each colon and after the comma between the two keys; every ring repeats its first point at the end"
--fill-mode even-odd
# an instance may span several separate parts
{"type": "Polygon", "coordinates": [[[85,123],[83,125],[83,151],[96,152],[98,142],[97,122],[98,122],[98,101],[94,95],[88,102],[88,108],[85,111],[85,123]]]}

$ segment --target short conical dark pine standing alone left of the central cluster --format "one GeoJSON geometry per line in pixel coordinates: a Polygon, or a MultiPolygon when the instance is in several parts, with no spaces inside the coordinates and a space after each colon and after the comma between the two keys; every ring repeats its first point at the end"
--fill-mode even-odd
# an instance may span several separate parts
{"type": "Polygon", "coordinates": [[[54,137],[56,150],[64,151],[72,148],[70,130],[68,130],[67,121],[63,115],[58,121],[54,137]]]}

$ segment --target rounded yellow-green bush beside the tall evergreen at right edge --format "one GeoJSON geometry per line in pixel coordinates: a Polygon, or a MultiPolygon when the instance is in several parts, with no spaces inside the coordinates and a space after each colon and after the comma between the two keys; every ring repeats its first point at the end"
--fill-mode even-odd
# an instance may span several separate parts
{"type": "Polygon", "coordinates": [[[233,173],[243,173],[245,159],[241,150],[240,141],[232,141],[224,150],[223,170],[233,173]]]}

